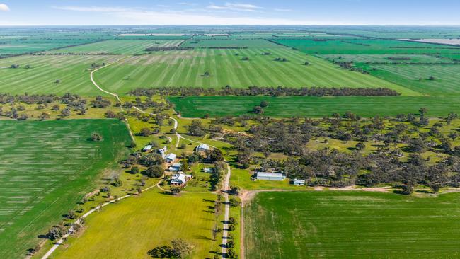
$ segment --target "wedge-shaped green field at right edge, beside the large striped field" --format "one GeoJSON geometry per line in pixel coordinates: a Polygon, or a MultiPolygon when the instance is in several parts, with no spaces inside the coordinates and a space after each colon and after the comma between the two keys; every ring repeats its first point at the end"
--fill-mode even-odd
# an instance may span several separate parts
{"type": "Polygon", "coordinates": [[[357,64],[357,67],[424,95],[460,95],[460,65],[357,64]],[[429,80],[430,76],[434,80],[429,80]]]}

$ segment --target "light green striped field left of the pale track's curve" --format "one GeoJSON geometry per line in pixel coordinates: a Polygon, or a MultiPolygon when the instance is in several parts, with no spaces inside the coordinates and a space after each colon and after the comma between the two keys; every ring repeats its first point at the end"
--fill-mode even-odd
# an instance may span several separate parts
{"type": "Polygon", "coordinates": [[[91,83],[91,64],[108,64],[115,56],[21,56],[0,59],[0,93],[78,93],[98,96],[100,92],[91,83]],[[20,67],[12,69],[12,64],[20,67]],[[30,65],[30,68],[26,68],[30,65]],[[59,84],[56,83],[59,80],[59,84]]]}

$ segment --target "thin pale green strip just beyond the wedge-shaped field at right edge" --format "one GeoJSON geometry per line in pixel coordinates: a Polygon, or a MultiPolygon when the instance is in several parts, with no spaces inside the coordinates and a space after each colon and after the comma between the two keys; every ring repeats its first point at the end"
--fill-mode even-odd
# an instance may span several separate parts
{"type": "Polygon", "coordinates": [[[443,59],[422,54],[326,54],[319,55],[335,62],[355,63],[454,63],[450,59],[443,59]],[[391,59],[393,58],[393,59],[391,59]],[[396,58],[396,59],[394,59],[396,58]]]}

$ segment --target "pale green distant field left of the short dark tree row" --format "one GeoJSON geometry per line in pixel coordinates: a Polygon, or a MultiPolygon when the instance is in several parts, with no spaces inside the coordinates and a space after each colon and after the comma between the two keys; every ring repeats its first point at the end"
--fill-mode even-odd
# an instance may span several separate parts
{"type": "Polygon", "coordinates": [[[147,47],[177,47],[183,40],[105,40],[87,45],[53,50],[52,53],[144,54],[147,47]]]}

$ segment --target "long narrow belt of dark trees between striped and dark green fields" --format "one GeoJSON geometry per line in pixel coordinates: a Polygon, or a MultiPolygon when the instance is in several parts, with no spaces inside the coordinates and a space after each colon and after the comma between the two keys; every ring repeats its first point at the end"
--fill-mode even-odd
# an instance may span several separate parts
{"type": "Polygon", "coordinates": [[[133,96],[400,96],[389,88],[326,88],[326,87],[260,87],[248,88],[201,88],[201,87],[159,87],[137,88],[130,91],[133,96]]]}

